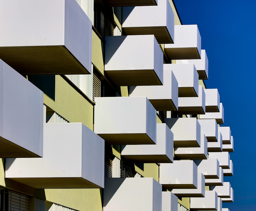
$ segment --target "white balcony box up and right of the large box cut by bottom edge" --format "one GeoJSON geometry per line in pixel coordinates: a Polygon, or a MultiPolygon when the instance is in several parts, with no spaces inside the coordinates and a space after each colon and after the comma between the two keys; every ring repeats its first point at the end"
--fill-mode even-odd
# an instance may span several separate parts
{"type": "Polygon", "coordinates": [[[159,166],[159,183],[167,189],[196,189],[197,165],[193,161],[161,163],[159,166]]]}

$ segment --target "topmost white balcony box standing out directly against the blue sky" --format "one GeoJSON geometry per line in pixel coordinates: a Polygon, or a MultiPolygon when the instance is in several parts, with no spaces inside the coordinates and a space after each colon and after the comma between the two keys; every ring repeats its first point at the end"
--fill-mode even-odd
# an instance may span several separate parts
{"type": "Polygon", "coordinates": [[[174,44],[164,46],[170,59],[201,58],[201,36],[197,25],[175,25],[174,37],[174,44]]]}

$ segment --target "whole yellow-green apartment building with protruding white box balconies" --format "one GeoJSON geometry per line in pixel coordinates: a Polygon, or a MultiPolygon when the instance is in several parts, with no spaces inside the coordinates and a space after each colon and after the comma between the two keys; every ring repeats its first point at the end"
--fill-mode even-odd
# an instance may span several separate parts
{"type": "Polygon", "coordinates": [[[174,1],[0,5],[0,211],[228,210],[233,136],[174,1]]]}

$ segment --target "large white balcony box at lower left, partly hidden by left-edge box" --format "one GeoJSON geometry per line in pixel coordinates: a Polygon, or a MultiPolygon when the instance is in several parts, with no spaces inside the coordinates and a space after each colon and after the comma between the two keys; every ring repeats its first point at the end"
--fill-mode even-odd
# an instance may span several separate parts
{"type": "Polygon", "coordinates": [[[104,188],[104,140],[82,123],[45,123],[42,158],[6,159],[5,178],[34,188],[104,188]]]}

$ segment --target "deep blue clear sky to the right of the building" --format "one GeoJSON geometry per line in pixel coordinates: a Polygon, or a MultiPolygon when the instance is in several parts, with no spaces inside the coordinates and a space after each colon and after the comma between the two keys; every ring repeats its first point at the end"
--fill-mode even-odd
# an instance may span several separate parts
{"type": "Polygon", "coordinates": [[[256,210],[255,49],[256,1],[175,0],[183,24],[197,24],[209,59],[207,88],[218,88],[224,125],[234,137],[230,211],[256,210]]]}

